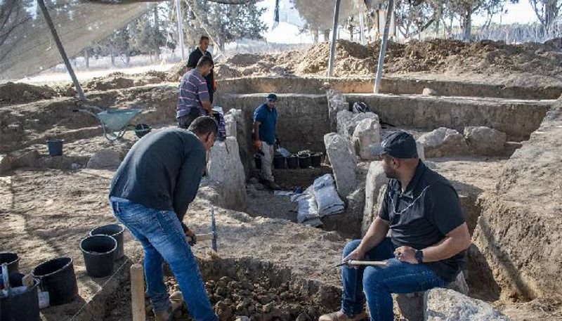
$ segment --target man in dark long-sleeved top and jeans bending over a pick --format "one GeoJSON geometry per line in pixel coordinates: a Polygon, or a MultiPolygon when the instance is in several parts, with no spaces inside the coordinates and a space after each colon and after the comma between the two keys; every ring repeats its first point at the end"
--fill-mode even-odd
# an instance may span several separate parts
{"type": "Polygon", "coordinates": [[[157,321],[169,320],[181,300],[171,303],[164,285],[166,261],[180,286],[192,317],[216,321],[183,223],[195,199],[218,126],[212,117],[195,119],[188,130],[149,133],[129,150],[111,181],[113,213],[141,242],[145,280],[157,321]]]}

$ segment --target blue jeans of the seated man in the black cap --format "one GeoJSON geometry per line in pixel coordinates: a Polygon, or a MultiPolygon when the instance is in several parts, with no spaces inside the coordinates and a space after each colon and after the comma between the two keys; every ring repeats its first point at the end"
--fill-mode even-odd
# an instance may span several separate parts
{"type": "MultiPolygon", "coordinates": [[[[360,240],[346,244],[344,257],[359,246],[360,240]]],[[[341,310],[348,317],[363,311],[363,292],[371,320],[393,321],[391,293],[411,293],[425,291],[433,287],[444,287],[447,282],[424,264],[400,262],[394,258],[395,247],[390,237],[365,254],[365,260],[388,260],[388,266],[365,268],[341,267],[341,280],[344,293],[341,296],[341,310]]]]}

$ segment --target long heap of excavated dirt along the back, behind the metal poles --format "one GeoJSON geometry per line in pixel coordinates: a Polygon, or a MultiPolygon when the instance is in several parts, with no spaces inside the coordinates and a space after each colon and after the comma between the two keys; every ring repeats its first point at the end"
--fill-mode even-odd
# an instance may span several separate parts
{"type": "MultiPolygon", "coordinates": [[[[507,74],[527,72],[556,76],[562,72],[562,51],[558,39],[545,44],[511,45],[502,41],[433,39],[407,44],[388,44],[385,71],[407,72],[475,72],[507,74]]],[[[372,76],[377,72],[379,43],[362,46],[339,40],[336,44],[334,75],[372,76]]],[[[305,51],[276,54],[243,53],[218,64],[218,77],[260,75],[325,75],[329,58],[328,43],[315,44],[305,51]],[[219,66],[228,66],[223,68],[219,66]],[[222,71],[226,70],[225,74],[222,71]]]]}

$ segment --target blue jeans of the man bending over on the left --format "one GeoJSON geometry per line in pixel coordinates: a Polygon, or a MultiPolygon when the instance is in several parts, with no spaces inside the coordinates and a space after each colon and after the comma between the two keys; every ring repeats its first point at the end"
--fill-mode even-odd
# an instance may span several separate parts
{"type": "Polygon", "coordinates": [[[192,317],[197,321],[218,320],[174,211],[150,209],[119,197],[111,197],[110,202],[115,217],[143,244],[147,292],[155,312],[171,306],[162,270],[162,263],[166,261],[176,276],[192,317]]]}

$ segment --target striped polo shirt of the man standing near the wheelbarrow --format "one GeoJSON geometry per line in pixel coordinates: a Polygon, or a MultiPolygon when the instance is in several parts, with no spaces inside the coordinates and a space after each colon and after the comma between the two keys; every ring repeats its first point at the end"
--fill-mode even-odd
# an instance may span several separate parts
{"type": "Polygon", "coordinates": [[[207,114],[201,105],[204,100],[209,100],[207,81],[197,68],[186,72],[181,79],[176,117],[189,114],[192,108],[198,108],[200,114],[207,114]]]}

